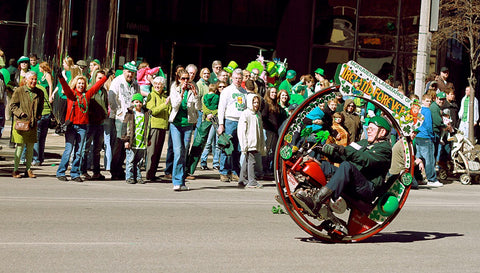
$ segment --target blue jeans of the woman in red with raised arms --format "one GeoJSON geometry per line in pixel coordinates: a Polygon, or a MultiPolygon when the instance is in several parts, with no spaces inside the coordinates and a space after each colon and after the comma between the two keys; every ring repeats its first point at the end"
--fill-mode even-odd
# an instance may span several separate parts
{"type": "Polygon", "coordinates": [[[83,146],[85,143],[85,136],[87,134],[87,125],[71,125],[65,132],[65,151],[57,169],[57,177],[65,176],[65,171],[68,168],[68,161],[70,154],[73,152],[72,169],[70,176],[72,179],[81,175],[80,162],[82,160],[83,146]]]}

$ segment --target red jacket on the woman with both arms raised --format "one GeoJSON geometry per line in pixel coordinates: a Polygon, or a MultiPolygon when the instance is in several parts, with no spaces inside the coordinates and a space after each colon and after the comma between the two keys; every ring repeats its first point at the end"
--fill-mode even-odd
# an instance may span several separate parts
{"type": "MultiPolygon", "coordinates": [[[[67,82],[63,77],[59,78],[60,84],[62,84],[63,92],[67,96],[67,114],[65,120],[72,121],[73,124],[88,124],[88,105],[90,104],[90,99],[95,93],[100,90],[102,85],[107,80],[107,77],[103,77],[101,80],[96,82],[90,89],[85,93],[80,93],[77,89],[72,90],[68,86],[67,82]],[[83,104],[84,107],[81,108],[80,104],[83,104]],[[74,107],[75,104],[75,107],[74,107]],[[72,113],[72,109],[74,112],[72,113]]],[[[87,83],[85,83],[86,85],[87,83]]]]}

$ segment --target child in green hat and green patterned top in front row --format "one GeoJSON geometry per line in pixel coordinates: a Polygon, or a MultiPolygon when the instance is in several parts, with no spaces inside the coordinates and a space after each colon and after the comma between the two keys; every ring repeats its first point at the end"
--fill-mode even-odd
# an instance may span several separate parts
{"type": "Polygon", "coordinates": [[[145,156],[148,142],[149,114],[143,108],[143,96],[132,96],[133,106],[127,109],[122,125],[122,140],[126,150],[125,179],[128,184],[144,184],[139,162],[145,156]]]}

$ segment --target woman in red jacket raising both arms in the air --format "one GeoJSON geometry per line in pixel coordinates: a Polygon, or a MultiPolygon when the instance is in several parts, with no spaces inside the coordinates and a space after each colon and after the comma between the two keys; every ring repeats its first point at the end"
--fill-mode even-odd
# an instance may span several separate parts
{"type": "MultiPolygon", "coordinates": [[[[61,75],[61,73],[59,72],[58,75],[61,75]]],[[[70,176],[75,182],[83,182],[83,179],[80,177],[80,168],[87,125],[89,123],[88,107],[90,105],[90,99],[98,92],[98,90],[100,90],[100,87],[106,80],[107,77],[103,77],[87,90],[86,87],[88,80],[83,75],[76,76],[71,81],[70,86],[67,84],[64,77],[59,77],[60,84],[67,96],[67,114],[65,120],[70,123],[65,132],[65,151],[63,152],[62,159],[60,160],[57,169],[57,179],[60,181],[67,181],[65,172],[67,171],[68,162],[71,153],[73,152],[70,176]]]]}

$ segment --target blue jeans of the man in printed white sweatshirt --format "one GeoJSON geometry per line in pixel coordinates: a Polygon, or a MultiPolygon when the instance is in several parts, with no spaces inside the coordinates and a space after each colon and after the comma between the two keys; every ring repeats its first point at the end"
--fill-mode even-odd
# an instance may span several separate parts
{"type": "Polygon", "coordinates": [[[225,134],[232,136],[233,152],[227,156],[224,151],[220,154],[220,174],[240,174],[240,149],[238,143],[237,126],[238,121],[225,119],[225,134]]]}

